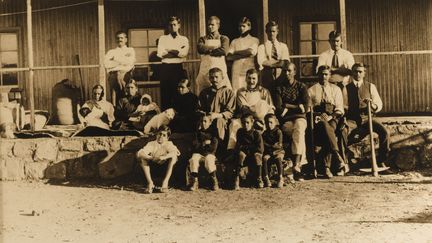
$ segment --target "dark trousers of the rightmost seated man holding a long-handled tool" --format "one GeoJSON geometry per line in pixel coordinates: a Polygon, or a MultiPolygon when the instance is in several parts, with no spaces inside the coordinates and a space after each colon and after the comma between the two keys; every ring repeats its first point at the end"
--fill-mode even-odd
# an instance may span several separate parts
{"type": "MultiPolygon", "coordinates": [[[[346,121],[346,127],[342,132],[344,146],[360,142],[363,138],[369,135],[369,123],[365,120],[362,123],[356,123],[353,120],[346,121]]],[[[387,160],[388,152],[390,151],[390,135],[385,127],[376,120],[372,120],[372,130],[378,134],[379,149],[377,161],[383,163],[387,160]]]]}

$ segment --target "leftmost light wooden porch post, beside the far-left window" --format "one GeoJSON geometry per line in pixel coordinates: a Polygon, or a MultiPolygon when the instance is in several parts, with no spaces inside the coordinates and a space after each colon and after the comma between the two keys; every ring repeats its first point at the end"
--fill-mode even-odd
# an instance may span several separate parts
{"type": "Polygon", "coordinates": [[[33,24],[32,24],[31,0],[27,0],[27,49],[28,49],[28,90],[30,95],[30,127],[35,130],[35,111],[34,111],[34,63],[33,63],[33,24]]]}

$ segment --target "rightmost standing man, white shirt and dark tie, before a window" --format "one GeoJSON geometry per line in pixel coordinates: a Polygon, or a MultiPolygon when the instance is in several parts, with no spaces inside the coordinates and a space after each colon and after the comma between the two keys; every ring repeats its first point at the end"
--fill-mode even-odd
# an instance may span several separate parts
{"type": "Polygon", "coordinates": [[[343,85],[347,85],[351,67],[354,65],[354,57],[351,52],[342,49],[343,42],[340,32],[331,31],[329,33],[329,43],[330,49],[321,53],[318,57],[317,72],[320,66],[327,65],[332,68],[330,82],[343,82],[343,85]]]}

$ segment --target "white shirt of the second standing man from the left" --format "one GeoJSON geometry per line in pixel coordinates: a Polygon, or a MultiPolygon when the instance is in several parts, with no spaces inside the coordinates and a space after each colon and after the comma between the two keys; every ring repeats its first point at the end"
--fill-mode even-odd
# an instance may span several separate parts
{"type": "Polygon", "coordinates": [[[189,40],[185,36],[177,34],[176,38],[173,38],[171,34],[168,34],[159,37],[157,55],[162,58],[163,63],[182,63],[186,59],[188,52],[189,40]],[[179,57],[163,58],[170,50],[179,51],[179,57]]]}

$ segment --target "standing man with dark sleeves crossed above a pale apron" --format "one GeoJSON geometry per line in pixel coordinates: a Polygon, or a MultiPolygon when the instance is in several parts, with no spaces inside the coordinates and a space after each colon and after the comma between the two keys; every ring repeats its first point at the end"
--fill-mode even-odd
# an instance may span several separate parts
{"type": "Polygon", "coordinates": [[[195,81],[195,94],[207,87],[210,87],[209,70],[217,67],[222,70],[225,86],[231,88],[227,75],[225,56],[229,48],[229,38],[219,33],[220,19],[211,16],[207,21],[208,33],[198,40],[198,53],[201,54],[201,64],[198,76],[195,81]]]}

